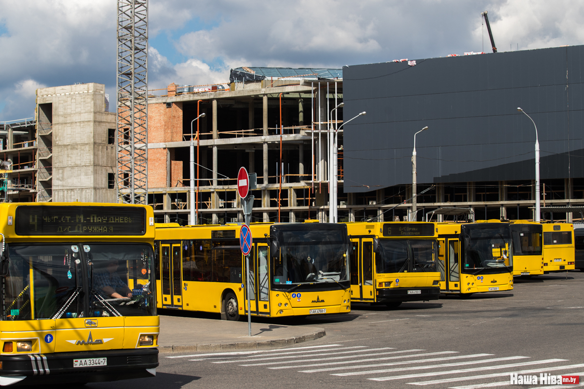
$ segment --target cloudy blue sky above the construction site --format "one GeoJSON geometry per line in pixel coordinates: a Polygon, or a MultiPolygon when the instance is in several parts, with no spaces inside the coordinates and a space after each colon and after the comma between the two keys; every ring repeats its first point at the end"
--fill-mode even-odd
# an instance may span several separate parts
{"type": "MultiPolygon", "coordinates": [[[[0,0],[0,121],[31,117],[37,87],[98,82],[115,96],[116,4],[0,0]]],[[[481,51],[490,47],[484,10],[500,51],[584,43],[576,0],[150,0],[149,89],[227,82],[237,66],[340,68],[481,51]]]]}

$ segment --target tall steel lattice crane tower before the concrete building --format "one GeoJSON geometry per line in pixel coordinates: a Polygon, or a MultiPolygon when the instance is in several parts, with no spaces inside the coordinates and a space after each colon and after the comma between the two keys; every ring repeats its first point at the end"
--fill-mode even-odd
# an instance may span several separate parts
{"type": "Polygon", "coordinates": [[[118,201],[148,204],[148,0],[117,0],[118,201]]]}

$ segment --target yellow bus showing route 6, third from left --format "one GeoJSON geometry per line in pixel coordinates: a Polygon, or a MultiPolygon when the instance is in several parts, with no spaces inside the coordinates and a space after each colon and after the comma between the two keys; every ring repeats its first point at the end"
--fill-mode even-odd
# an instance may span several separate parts
{"type": "Polygon", "coordinates": [[[346,223],[351,301],[398,307],[402,302],[437,300],[436,223],[346,223]]]}

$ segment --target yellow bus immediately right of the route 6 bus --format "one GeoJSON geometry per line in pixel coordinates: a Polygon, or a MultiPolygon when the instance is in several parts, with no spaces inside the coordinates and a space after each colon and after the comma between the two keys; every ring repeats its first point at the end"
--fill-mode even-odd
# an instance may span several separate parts
{"type": "Polygon", "coordinates": [[[440,292],[470,296],[513,289],[509,223],[437,223],[440,292]]]}

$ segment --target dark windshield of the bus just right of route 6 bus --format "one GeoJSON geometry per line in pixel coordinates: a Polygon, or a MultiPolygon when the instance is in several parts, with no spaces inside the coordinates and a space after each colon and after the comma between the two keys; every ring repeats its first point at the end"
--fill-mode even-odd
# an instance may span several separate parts
{"type": "MultiPolygon", "coordinates": [[[[493,223],[494,224],[494,223],[493,223]]],[[[463,225],[463,273],[500,273],[513,271],[513,256],[509,251],[509,225],[463,225]]]]}

